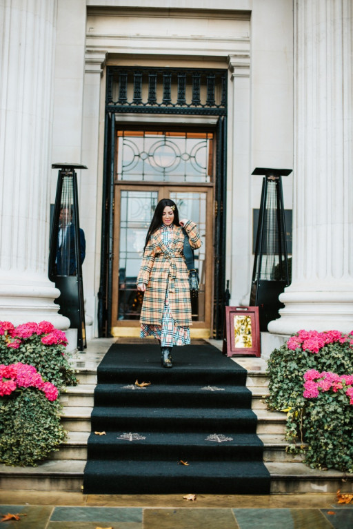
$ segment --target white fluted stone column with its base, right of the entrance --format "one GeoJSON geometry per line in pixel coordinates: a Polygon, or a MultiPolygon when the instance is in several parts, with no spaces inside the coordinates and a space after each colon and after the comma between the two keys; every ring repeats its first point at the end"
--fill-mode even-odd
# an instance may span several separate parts
{"type": "Polygon", "coordinates": [[[294,1],[293,275],[271,333],[353,329],[352,14],[294,1]]]}

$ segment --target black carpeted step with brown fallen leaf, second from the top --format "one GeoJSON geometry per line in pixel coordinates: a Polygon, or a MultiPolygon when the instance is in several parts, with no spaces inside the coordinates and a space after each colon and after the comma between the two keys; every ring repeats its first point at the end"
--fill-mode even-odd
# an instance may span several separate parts
{"type": "Polygon", "coordinates": [[[99,384],[94,391],[96,406],[156,406],[250,408],[252,394],[245,386],[183,386],[155,384],[99,384]]]}

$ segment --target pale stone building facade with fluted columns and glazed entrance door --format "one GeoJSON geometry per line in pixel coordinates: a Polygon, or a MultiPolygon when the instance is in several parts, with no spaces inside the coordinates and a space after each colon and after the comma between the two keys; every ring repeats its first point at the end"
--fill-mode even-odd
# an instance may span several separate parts
{"type": "Polygon", "coordinates": [[[0,0],[0,319],[51,320],[49,211],[82,163],[89,336],[137,335],[151,211],[199,223],[194,337],[248,304],[255,167],[283,178],[292,284],[271,333],[353,328],[350,0],[0,0]],[[290,228],[290,227],[288,227],[290,228]]]}

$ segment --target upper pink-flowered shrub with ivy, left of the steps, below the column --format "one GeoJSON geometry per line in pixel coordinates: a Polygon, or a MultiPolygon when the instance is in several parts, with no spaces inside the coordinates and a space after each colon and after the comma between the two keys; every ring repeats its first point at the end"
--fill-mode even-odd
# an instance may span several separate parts
{"type": "Polygon", "coordinates": [[[77,384],[64,356],[67,343],[65,333],[50,322],[28,322],[17,327],[0,322],[0,363],[30,364],[58,388],[77,384]]]}

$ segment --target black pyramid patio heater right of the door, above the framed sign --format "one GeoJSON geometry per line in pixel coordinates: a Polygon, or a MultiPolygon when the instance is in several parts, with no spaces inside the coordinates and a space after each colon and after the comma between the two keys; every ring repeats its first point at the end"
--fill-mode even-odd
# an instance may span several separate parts
{"type": "Polygon", "coordinates": [[[252,172],[263,175],[250,293],[250,305],[259,307],[260,331],[267,331],[268,323],[279,318],[279,309],[284,307],[279,295],[290,284],[282,176],[291,172],[263,167],[252,172]]]}

